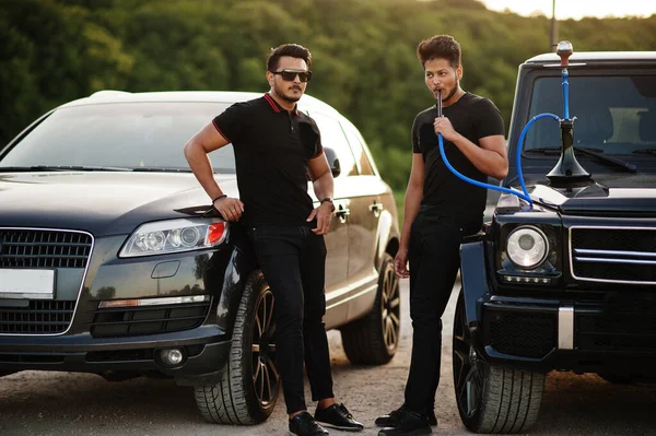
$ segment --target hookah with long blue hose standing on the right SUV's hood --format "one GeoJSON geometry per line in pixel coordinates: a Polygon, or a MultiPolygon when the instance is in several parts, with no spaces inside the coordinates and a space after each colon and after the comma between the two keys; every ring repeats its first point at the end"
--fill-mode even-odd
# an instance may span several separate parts
{"type": "MultiPolygon", "coordinates": [[[[524,146],[524,140],[526,139],[526,133],[528,132],[528,129],[534,125],[534,122],[536,122],[537,120],[542,119],[542,118],[552,118],[559,122],[560,128],[561,128],[562,152],[561,152],[561,157],[559,160],[558,164],[547,175],[547,177],[549,178],[549,180],[551,180],[554,184],[558,184],[561,181],[577,181],[577,180],[589,179],[589,177],[590,177],[589,173],[587,173],[585,169],[583,169],[583,167],[578,164],[578,162],[576,161],[576,157],[574,156],[573,131],[574,131],[574,120],[576,119],[576,117],[570,118],[570,83],[567,82],[567,76],[569,76],[567,67],[570,66],[569,58],[574,52],[574,50],[572,48],[572,44],[566,40],[560,42],[558,44],[555,52],[561,58],[560,66],[562,67],[561,75],[562,75],[562,80],[563,80],[563,82],[562,82],[563,118],[561,119],[557,115],[548,114],[548,113],[536,115],[524,127],[524,130],[522,130],[522,134],[519,135],[519,142],[517,144],[517,178],[519,179],[519,185],[522,186],[522,192],[519,192],[515,189],[508,189],[508,188],[505,188],[502,186],[483,184],[481,181],[471,179],[471,178],[458,173],[458,170],[456,168],[454,168],[452,166],[452,164],[448,162],[448,160],[446,158],[446,155],[444,153],[444,139],[442,138],[442,133],[438,133],[437,138],[438,138],[438,142],[440,142],[440,154],[442,155],[442,160],[444,161],[444,164],[446,165],[446,167],[454,175],[456,175],[458,178],[460,178],[471,185],[476,185],[481,188],[493,189],[493,190],[497,190],[501,192],[517,196],[520,199],[528,202],[529,204],[532,204],[534,200],[531,199],[531,197],[528,193],[528,190],[526,189],[526,184],[524,182],[524,174],[522,173],[522,149],[524,146]]],[[[442,117],[442,91],[437,92],[436,108],[437,108],[437,117],[442,117]]]]}

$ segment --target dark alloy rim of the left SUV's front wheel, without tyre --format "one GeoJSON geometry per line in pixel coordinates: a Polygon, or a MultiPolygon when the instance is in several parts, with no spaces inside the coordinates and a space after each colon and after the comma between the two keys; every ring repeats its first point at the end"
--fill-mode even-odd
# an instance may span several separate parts
{"type": "Polygon", "coordinates": [[[280,374],[276,367],[276,325],[273,294],[267,287],[255,305],[251,338],[253,387],[261,408],[270,406],[278,397],[280,374]]]}

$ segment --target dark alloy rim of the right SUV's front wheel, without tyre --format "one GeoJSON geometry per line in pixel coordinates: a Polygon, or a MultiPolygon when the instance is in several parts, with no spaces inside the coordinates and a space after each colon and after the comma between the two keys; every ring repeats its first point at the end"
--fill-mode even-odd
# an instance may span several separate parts
{"type": "Polygon", "coordinates": [[[458,302],[454,322],[453,364],[456,401],[460,413],[471,417],[480,408],[485,367],[471,345],[471,333],[467,327],[462,301],[458,302]]]}

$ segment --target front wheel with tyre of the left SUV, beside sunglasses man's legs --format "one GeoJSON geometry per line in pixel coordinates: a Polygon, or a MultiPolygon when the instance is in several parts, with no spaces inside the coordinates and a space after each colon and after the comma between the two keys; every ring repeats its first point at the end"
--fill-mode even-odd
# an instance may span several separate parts
{"type": "Polygon", "coordinates": [[[280,375],[276,368],[273,294],[261,272],[248,279],[233,329],[221,381],[196,388],[196,403],[211,423],[258,424],[276,405],[280,375]]]}

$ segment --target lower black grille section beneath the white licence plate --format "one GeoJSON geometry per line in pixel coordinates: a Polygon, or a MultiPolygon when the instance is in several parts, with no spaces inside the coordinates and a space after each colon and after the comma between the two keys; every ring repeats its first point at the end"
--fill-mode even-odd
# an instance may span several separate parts
{"type": "Polygon", "coordinates": [[[73,319],[75,302],[31,301],[27,307],[0,307],[0,333],[61,333],[73,319]]]}

